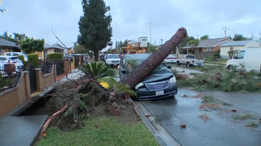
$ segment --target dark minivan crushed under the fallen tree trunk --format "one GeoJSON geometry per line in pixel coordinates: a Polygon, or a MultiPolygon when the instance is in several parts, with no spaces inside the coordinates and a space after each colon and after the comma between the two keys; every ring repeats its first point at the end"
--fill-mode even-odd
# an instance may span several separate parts
{"type": "MultiPolygon", "coordinates": [[[[120,79],[126,77],[132,70],[130,65],[128,65],[128,60],[134,59],[137,62],[136,65],[139,65],[149,56],[149,53],[127,54],[122,56],[119,64],[120,79]]],[[[177,82],[170,68],[170,65],[167,66],[166,64],[161,63],[151,72],[150,76],[137,84],[135,86],[135,92],[138,95],[137,100],[154,100],[174,97],[174,95],[177,94],[177,82]]]]}

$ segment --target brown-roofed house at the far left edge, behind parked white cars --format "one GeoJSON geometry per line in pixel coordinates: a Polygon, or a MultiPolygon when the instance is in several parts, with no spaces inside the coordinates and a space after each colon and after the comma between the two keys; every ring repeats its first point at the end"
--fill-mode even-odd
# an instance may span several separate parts
{"type": "Polygon", "coordinates": [[[21,48],[19,44],[15,42],[0,38],[0,54],[4,55],[6,52],[21,52],[21,48]]]}

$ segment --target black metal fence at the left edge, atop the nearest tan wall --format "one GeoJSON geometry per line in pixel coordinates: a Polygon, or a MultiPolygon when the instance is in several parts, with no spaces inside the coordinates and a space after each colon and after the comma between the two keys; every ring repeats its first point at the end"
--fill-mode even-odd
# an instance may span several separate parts
{"type": "Polygon", "coordinates": [[[0,91],[15,87],[19,81],[21,72],[11,68],[0,67],[0,91]]]}

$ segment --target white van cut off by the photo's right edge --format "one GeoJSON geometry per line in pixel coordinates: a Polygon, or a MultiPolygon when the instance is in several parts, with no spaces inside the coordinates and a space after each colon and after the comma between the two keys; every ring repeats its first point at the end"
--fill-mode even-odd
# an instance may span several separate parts
{"type": "Polygon", "coordinates": [[[241,50],[233,59],[227,61],[227,68],[234,68],[235,71],[255,71],[260,73],[261,69],[261,48],[241,50]]]}

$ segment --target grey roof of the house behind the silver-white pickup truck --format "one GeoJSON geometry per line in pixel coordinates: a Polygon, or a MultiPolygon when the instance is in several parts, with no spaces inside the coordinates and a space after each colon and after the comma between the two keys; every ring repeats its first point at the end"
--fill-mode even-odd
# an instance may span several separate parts
{"type": "MultiPolygon", "coordinates": [[[[197,48],[211,48],[214,46],[217,46],[219,44],[222,44],[224,42],[228,42],[227,40],[224,40],[225,38],[212,38],[212,39],[206,39],[206,40],[199,40],[199,44],[197,46],[197,48]]],[[[230,40],[229,38],[227,38],[228,40],[230,40]]],[[[230,40],[232,41],[232,40],[230,40]]],[[[185,46],[182,48],[192,48],[192,45],[189,46],[185,46]]]]}

